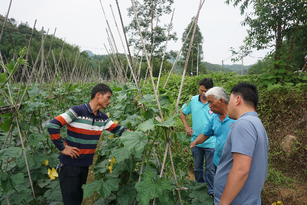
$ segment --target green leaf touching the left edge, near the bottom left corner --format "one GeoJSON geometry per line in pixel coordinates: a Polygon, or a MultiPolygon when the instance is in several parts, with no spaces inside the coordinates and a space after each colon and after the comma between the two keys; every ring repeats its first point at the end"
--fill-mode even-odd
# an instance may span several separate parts
{"type": "Polygon", "coordinates": [[[1,176],[1,188],[3,194],[8,193],[14,189],[14,187],[24,182],[24,175],[22,173],[8,176],[8,173],[0,174],[1,176]]]}

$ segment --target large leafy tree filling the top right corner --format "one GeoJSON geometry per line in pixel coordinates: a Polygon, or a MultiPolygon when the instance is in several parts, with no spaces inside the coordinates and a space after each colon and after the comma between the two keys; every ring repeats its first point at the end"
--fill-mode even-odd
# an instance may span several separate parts
{"type": "MultiPolygon", "coordinates": [[[[226,3],[229,4],[230,0],[226,3]]],[[[283,40],[288,37],[291,44],[297,39],[298,31],[305,28],[307,22],[307,4],[304,0],[231,0],[234,6],[240,2],[241,14],[246,12],[249,5],[254,11],[246,14],[242,25],[248,25],[248,36],[245,38],[244,55],[248,55],[252,48],[257,50],[273,48],[274,60],[279,60],[282,56],[281,48],[283,40]],[[272,42],[274,42],[272,44],[272,42]]],[[[288,59],[291,59],[293,48],[289,51],[288,59]]],[[[233,53],[236,53],[233,51],[233,53]]],[[[234,60],[238,60],[235,58],[234,60]]],[[[279,65],[275,64],[275,69],[279,65]]]]}

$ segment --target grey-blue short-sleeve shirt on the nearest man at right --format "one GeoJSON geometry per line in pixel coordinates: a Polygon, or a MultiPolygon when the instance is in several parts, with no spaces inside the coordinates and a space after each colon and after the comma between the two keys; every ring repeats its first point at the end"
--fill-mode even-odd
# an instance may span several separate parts
{"type": "Polygon", "coordinates": [[[228,133],[222,157],[214,178],[214,204],[220,203],[228,174],[233,165],[233,153],[252,157],[251,167],[243,188],[231,205],[260,205],[260,193],[268,175],[269,140],[256,112],[247,112],[228,133]]]}

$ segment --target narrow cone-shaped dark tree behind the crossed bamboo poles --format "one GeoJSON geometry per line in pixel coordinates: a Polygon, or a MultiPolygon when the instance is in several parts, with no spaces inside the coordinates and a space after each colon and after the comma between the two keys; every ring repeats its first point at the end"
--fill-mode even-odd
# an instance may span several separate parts
{"type": "MultiPolygon", "coordinates": [[[[183,34],[182,34],[182,38],[181,41],[184,42],[191,26],[192,23],[194,21],[193,17],[191,19],[191,23],[188,25],[188,27],[184,30],[183,34]]],[[[190,46],[190,42],[191,42],[191,38],[192,38],[193,32],[190,32],[188,39],[186,41],[185,46],[182,49],[182,53],[181,55],[183,56],[183,58],[178,62],[178,64],[184,68],[185,65],[185,61],[188,55],[188,51],[189,51],[189,46],[190,46]]],[[[194,35],[194,39],[193,39],[193,44],[192,44],[192,48],[191,48],[191,52],[190,52],[190,56],[189,56],[189,60],[188,60],[188,64],[187,64],[187,71],[186,73],[190,74],[191,72],[193,72],[193,75],[196,75],[196,70],[197,70],[197,63],[199,64],[199,73],[203,73],[205,74],[207,72],[206,67],[204,66],[204,64],[201,63],[201,61],[203,60],[203,44],[204,42],[204,37],[203,34],[199,28],[199,26],[197,25],[196,27],[196,31],[195,31],[195,35],[194,35]],[[198,51],[199,49],[199,51],[198,51]],[[198,56],[199,55],[199,56],[198,56]]]]}

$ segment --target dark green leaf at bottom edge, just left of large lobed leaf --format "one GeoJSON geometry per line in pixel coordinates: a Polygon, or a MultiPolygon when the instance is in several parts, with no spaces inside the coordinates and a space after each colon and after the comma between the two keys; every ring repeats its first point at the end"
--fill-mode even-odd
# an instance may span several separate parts
{"type": "Polygon", "coordinates": [[[136,196],[137,190],[135,189],[135,183],[129,183],[129,185],[119,188],[117,192],[117,201],[119,205],[128,205],[136,196]]]}

